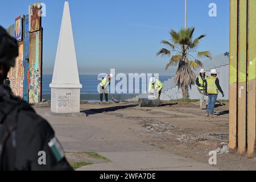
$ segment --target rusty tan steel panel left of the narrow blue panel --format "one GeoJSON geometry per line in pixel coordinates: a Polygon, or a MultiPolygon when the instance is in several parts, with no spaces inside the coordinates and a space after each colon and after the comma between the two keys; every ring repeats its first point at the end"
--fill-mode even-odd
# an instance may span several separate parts
{"type": "Polygon", "coordinates": [[[11,68],[8,77],[11,90],[15,96],[23,98],[23,43],[19,42],[19,55],[16,58],[15,67],[11,68]]]}

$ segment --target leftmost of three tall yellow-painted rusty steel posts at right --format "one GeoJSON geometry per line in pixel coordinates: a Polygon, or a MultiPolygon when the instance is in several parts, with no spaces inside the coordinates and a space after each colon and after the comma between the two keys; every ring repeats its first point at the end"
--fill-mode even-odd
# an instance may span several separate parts
{"type": "Polygon", "coordinates": [[[229,148],[237,149],[237,35],[238,2],[230,0],[230,56],[229,56],[229,148]]]}

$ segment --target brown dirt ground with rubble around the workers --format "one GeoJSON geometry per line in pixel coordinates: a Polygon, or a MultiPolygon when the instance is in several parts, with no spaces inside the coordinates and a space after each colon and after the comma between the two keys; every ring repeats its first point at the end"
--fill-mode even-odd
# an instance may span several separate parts
{"type": "MultiPolygon", "coordinates": [[[[138,140],[197,162],[208,164],[210,151],[228,145],[228,103],[225,106],[216,105],[217,118],[205,117],[205,110],[199,109],[198,102],[162,102],[160,107],[138,107],[133,102],[81,105],[88,106],[95,109],[86,114],[103,112],[137,121],[148,131],[138,140]]],[[[255,162],[255,159],[224,151],[218,153],[215,167],[222,170],[256,170],[255,162]]]]}

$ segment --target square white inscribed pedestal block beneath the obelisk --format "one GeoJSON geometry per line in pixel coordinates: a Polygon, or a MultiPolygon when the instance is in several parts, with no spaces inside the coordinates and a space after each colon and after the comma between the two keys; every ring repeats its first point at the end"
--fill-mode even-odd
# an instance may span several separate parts
{"type": "Polygon", "coordinates": [[[80,88],[51,88],[52,113],[80,113],[80,88]]]}

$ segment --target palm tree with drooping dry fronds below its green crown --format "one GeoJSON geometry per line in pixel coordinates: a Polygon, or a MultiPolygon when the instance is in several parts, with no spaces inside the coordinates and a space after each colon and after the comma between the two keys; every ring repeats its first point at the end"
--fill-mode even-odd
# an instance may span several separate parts
{"type": "Polygon", "coordinates": [[[156,55],[168,56],[170,61],[166,64],[166,70],[170,67],[177,67],[174,81],[179,89],[182,90],[183,98],[189,98],[188,88],[195,84],[196,74],[198,68],[203,67],[201,57],[212,59],[209,51],[196,51],[200,40],[206,35],[201,35],[193,40],[193,32],[195,28],[182,28],[179,32],[175,30],[170,31],[171,42],[162,40],[161,43],[168,46],[162,48],[156,55]],[[197,57],[197,58],[196,58],[197,57]]]}

